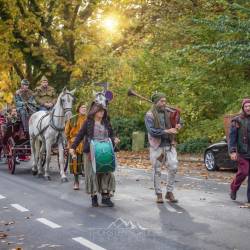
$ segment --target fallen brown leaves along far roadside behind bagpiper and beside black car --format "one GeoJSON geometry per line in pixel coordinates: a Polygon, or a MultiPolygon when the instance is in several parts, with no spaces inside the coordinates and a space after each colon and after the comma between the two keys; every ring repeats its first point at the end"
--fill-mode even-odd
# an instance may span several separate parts
{"type": "MultiPolygon", "coordinates": [[[[121,166],[132,168],[146,169],[151,171],[152,167],[149,161],[147,150],[140,152],[120,151],[117,153],[118,162],[121,166]]],[[[209,172],[204,166],[202,155],[178,155],[179,158],[179,175],[189,175],[204,179],[214,179],[218,182],[230,183],[234,172],[233,170],[222,169],[219,171],[209,172]]]]}

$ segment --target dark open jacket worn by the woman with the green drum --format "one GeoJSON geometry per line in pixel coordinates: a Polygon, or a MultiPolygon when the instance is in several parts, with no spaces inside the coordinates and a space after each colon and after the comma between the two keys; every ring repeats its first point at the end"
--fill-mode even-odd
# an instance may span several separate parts
{"type": "MultiPolygon", "coordinates": [[[[103,122],[105,128],[108,130],[108,136],[112,140],[113,146],[114,144],[114,132],[112,129],[112,126],[108,120],[105,120],[103,122]]],[[[76,138],[71,146],[74,150],[77,148],[79,143],[83,141],[83,152],[89,153],[90,152],[90,141],[94,136],[94,126],[95,121],[93,119],[87,119],[82,128],[79,130],[78,134],[76,135],[76,138]]],[[[116,151],[116,150],[115,150],[116,151]]]]}

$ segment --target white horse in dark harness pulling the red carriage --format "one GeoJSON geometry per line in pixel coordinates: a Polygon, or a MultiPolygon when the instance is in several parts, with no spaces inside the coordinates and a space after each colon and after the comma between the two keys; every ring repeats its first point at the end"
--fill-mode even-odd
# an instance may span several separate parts
{"type": "Polygon", "coordinates": [[[64,88],[51,112],[38,111],[30,117],[29,135],[33,175],[38,173],[39,177],[43,176],[42,159],[46,152],[44,178],[50,180],[51,147],[57,143],[61,180],[68,181],[64,171],[63,138],[65,123],[72,116],[74,92],[75,90],[68,91],[64,88]]]}

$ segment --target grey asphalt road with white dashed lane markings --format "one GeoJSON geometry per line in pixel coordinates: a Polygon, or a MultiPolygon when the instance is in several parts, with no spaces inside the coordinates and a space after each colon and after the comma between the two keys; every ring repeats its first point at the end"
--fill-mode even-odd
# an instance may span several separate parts
{"type": "MultiPolygon", "coordinates": [[[[26,163],[29,165],[29,163],[26,163]]],[[[250,209],[228,198],[228,185],[178,177],[178,205],[154,201],[151,174],[120,168],[114,208],[92,208],[84,193],[46,182],[18,166],[0,165],[0,249],[239,249],[249,250],[250,209]],[[7,235],[4,237],[3,233],[7,235]]]]}

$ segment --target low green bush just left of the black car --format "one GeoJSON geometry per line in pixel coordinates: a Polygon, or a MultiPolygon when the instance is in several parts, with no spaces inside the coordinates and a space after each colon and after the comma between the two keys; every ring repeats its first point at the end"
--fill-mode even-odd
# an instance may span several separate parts
{"type": "Polygon", "coordinates": [[[209,144],[208,138],[191,139],[177,145],[177,150],[180,153],[201,153],[209,144]]]}

